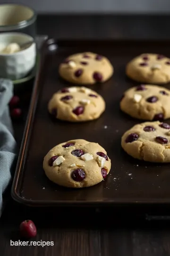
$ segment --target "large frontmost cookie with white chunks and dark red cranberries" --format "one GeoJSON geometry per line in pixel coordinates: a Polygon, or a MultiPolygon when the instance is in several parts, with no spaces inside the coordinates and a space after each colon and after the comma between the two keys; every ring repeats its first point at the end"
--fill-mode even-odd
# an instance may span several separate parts
{"type": "Polygon", "coordinates": [[[44,157],[43,169],[54,183],[82,188],[100,183],[110,172],[111,161],[98,143],[73,139],[53,147],[44,157]]]}

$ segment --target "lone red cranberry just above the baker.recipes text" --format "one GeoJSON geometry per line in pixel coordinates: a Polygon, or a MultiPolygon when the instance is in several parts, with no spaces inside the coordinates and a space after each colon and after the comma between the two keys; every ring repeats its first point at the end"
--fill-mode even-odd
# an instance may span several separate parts
{"type": "Polygon", "coordinates": [[[24,238],[34,238],[37,234],[37,229],[34,222],[30,219],[24,220],[20,224],[20,233],[24,238]]]}

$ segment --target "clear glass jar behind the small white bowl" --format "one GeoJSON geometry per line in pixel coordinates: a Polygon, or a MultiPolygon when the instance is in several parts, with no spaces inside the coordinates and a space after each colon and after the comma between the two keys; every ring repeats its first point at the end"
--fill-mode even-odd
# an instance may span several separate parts
{"type": "Polygon", "coordinates": [[[36,13],[30,7],[19,4],[0,4],[0,33],[20,32],[36,36],[36,13]]]}

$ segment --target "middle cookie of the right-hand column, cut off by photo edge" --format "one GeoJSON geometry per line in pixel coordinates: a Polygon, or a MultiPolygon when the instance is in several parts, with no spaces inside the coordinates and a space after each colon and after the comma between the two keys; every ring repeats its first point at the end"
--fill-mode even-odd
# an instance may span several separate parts
{"type": "Polygon", "coordinates": [[[120,101],[122,111],[144,120],[170,118],[170,90],[156,85],[139,85],[125,91],[120,101]]]}

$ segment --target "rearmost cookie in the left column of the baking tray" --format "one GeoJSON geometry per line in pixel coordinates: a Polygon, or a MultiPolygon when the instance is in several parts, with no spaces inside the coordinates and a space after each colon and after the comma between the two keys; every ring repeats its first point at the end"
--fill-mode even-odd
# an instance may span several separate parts
{"type": "Polygon", "coordinates": [[[108,80],[113,74],[113,67],[104,56],[90,52],[78,53],[59,65],[59,74],[68,82],[93,84],[108,80]]]}

